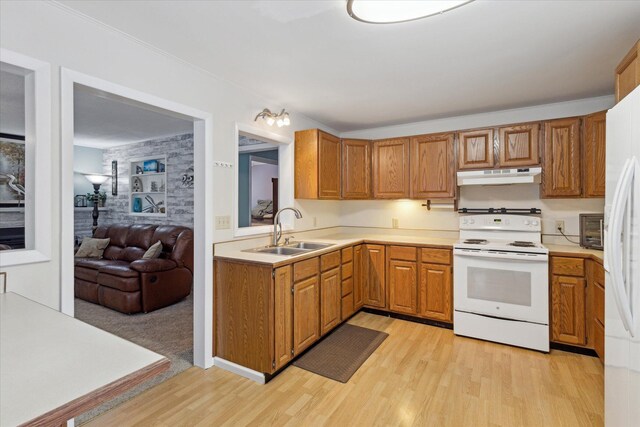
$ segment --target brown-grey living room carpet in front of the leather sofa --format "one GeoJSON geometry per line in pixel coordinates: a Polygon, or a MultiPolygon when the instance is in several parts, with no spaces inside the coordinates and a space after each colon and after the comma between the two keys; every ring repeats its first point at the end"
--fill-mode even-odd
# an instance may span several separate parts
{"type": "Polygon", "coordinates": [[[171,361],[169,369],[162,374],[76,417],[76,425],[86,423],[193,366],[193,293],[169,307],[137,314],[122,314],[76,298],[75,317],[162,354],[171,361]]]}

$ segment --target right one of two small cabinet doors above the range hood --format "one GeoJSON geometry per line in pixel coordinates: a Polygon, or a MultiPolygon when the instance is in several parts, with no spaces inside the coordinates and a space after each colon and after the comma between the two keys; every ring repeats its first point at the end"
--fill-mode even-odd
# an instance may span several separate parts
{"type": "Polygon", "coordinates": [[[539,130],[539,123],[501,127],[498,131],[500,167],[540,164],[539,130]]]}

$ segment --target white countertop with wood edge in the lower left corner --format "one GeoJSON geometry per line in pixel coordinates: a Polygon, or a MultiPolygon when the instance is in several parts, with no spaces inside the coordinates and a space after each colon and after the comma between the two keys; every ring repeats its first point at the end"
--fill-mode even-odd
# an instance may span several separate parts
{"type": "Polygon", "coordinates": [[[68,410],[73,401],[86,405],[99,399],[97,390],[123,377],[141,377],[150,365],[163,365],[162,371],[168,361],[18,294],[0,294],[1,426],[68,410]]]}

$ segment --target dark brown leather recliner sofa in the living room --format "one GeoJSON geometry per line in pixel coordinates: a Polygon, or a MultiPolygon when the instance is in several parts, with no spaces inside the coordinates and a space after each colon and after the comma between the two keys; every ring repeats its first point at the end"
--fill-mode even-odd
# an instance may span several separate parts
{"type": "Polygon", "coordinates": [[[173,225],[98,227],[95,238],[110,238],[103,257],[76,258],[75,296],[122,313],[148,313],[191,293],[193,231],[173,225]],[[157,241],[159,258],[142,259],[157,241]]]}

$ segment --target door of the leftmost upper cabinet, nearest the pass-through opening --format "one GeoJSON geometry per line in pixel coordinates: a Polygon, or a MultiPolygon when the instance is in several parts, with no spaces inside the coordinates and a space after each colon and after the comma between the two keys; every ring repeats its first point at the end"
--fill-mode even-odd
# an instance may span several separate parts
{"type": "Polygon", "coordinates": [[[318,135],[318,198],[340,198],[340,139],[328,133],[318,135]]]}

